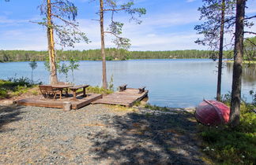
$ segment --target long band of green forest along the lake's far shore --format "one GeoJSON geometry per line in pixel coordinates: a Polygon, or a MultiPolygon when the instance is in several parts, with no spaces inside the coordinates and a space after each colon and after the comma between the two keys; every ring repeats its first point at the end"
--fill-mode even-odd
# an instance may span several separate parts
{"type": "MultiPolygon", "coordinates": [[[[125,61],[130,59],[183,59],[215,58],[216,52],[209,50],[173,50],[173,51],[127,51],[126,49],[105,49],[107,61],[125,61]]],[[[57,50],[60,61],[69,61],[70,57],[78,61],[101,61],[100,49],[57,50]]],[[[231,52],[224,52],[224,58],[231,57],[231,52]]],[[[47,51],[33,50],[0,50],[0,61],[47,61],[47,51]]]]}

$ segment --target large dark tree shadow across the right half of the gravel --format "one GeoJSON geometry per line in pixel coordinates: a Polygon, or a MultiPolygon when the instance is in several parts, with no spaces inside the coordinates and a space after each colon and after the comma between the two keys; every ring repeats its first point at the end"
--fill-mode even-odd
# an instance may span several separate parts
{"type": "Polygon", "coordinates": [[[91,134],[94,159],[118,164],[203,164],[194,116],[188,112],[133,112],[103,119],[106,129],[91,134]]]}

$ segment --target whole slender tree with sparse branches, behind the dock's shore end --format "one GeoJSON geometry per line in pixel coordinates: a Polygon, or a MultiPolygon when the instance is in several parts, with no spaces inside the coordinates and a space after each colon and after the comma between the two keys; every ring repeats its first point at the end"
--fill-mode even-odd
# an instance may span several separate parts
{"type": "Polygon", "coordinates": [[[102,56],[102,85],[107,88],[107,73],[106,73],[106,55],[105,55],[105,34],[111,34],[115,36],[113,42],[118,48],[129,49],[130,39],[123,38],[122,34],[123,23],[114,20],[115,13],[125,12],[131,15],[130,20],[135,20],[137,24],[141,24],[141,20],[138,20],[135,16],[141,16],[146,13],[144,8],[133,8],[134,2],[130,0],[129,2],[119,5],[120,1],[117,0],[99,0],[100,10],[98,14],[100,15],[100,38],[101,38],[101,56],[102,56]],[[108,31],[104,31],[104,16],[105,13],[111,13],[111,24],[109,24],[108,31]]]}

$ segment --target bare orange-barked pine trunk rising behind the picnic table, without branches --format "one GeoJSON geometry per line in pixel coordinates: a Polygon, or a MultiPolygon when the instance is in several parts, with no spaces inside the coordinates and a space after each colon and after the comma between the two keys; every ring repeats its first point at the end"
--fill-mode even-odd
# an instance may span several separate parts
{"type": "Polygon", "coordinates": [[[48,38],[48,53],[50,62],[50,83],[58,83],[56,61],[55,61],[55,40],[54,31],[51,23],[51,0],[47,0],[47,38],[48,38]]]}

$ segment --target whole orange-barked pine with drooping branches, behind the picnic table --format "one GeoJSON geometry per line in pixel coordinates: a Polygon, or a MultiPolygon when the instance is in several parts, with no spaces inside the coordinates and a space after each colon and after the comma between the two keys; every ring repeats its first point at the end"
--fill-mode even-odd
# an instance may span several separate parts
{"type": "Polygon", "coordinates": [[[43,0],[39,6],[43,21],[38,24],[47,27],[50,82],[58,83],[55,42],[60,46],[74,46],[75,42],[88,42],[84,32],[79,31],[77,7],[69,0],[43,0]],[[54,37],[57,35],[57,38],[54,37]]]}

